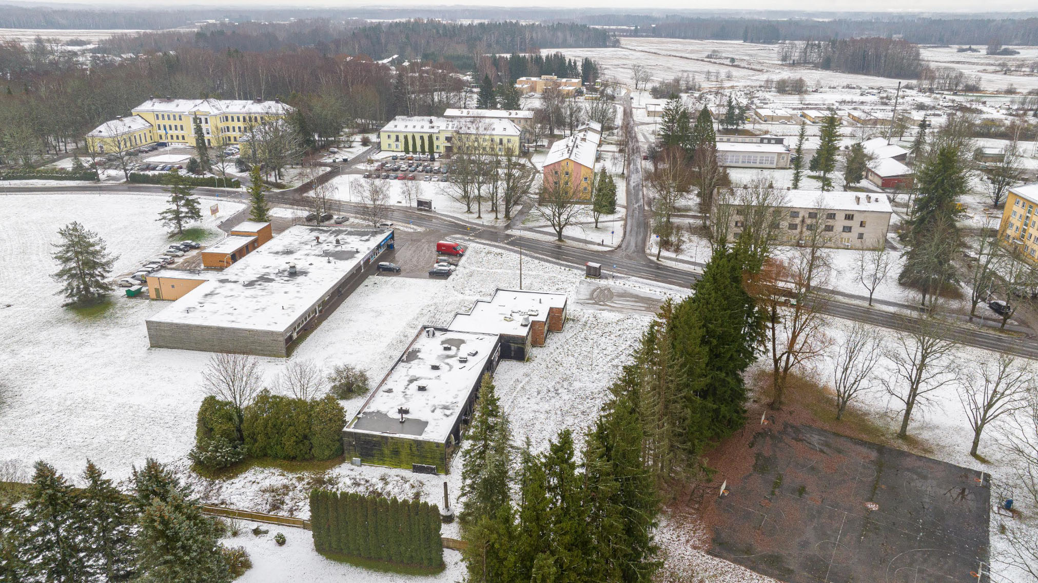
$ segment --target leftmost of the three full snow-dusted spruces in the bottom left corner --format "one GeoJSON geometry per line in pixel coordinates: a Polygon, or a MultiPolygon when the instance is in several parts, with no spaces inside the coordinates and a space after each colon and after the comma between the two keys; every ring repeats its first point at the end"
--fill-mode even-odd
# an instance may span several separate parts
{"type": "Polygon", "coordinates": [[[44,462],[36,462],[25,502],[21,554],[30,581],[79,583],[90,577],[83,546],[82,505],[72,484],[44,462]]]}

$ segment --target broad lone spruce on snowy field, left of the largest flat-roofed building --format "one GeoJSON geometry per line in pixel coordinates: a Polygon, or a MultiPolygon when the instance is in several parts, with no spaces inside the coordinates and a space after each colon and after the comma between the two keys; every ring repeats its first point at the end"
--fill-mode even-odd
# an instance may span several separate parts
{"type": "Polygon", "coordinates": [[[72,222],[58,229],[61,243],[51,254],[60,268],[51,277],[61,281],[61,289],[69,303],[85,306],[102,301],[112,290],[108,274],[117,257],[108,253],[105,241],[79,222],[72,222]]]}

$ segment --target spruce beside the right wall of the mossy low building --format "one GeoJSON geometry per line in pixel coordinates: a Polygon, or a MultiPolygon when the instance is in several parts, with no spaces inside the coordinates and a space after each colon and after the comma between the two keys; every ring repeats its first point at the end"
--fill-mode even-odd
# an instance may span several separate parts
{"type": "Polygon", "coordinates": [[[509,502],[512,468],[512,431],[494,393],[490,374],[483,377],[475,417],[468,431],[468,447],[462,453],[462,495],[465,506],[459,518],[473,524],[490,518],[509,502]]]}

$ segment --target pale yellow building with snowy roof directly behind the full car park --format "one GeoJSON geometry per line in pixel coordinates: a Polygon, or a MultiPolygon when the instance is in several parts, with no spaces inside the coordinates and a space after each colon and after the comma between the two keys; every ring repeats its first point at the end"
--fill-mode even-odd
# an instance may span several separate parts
{"type": "Polygon", "coordinates": [[[521,130],[506,118],[399,115],[379,131],[382,151],[450,154],[462,147],[518,155],[521,130]]]}

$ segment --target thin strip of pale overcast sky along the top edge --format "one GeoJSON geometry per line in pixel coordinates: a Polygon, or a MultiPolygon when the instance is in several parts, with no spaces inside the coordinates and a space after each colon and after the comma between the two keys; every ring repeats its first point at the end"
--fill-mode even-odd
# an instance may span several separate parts
{"type": "MultiPolygon", "coordinates": [[[[431,8],[438,3],[430,3],[422,0],[385,0],[381,2],[344,2],[343,0],[306,0],[302,2],[291,0],[217,0],[209,2],[208,5],[197,2],[197,0],[186,0],[182,3],[132,3],[127,0],[62,0],[62,4],[77,4],[84,7],[99,6],[126,6],[132,8],[164,8],[176,9],[183,7],[208,7],[216,6],[239,6],[239,7],[335,7],[349,9],[356,6],[421,6],[431,8]]],[[[1036,6],[1031,2],[1019,2],[1018,0],[987,0],[984,2],[967,0],[699,0],[694,3],[688,0],[644,0],[632,3],[631,0],[523,0],[520,3],[515,0],[484,0],[480,2],[467,1],[458,4],[443,5],[473,5],[473,6],[502,6],[502,7],[523,7],[523,6],[546,6],[553,8],[580,7],[580,8],[620,8],[620,9],[743,9],[743,10],[819,10],[819,11],[1034,11],[1036,6]]]]}

